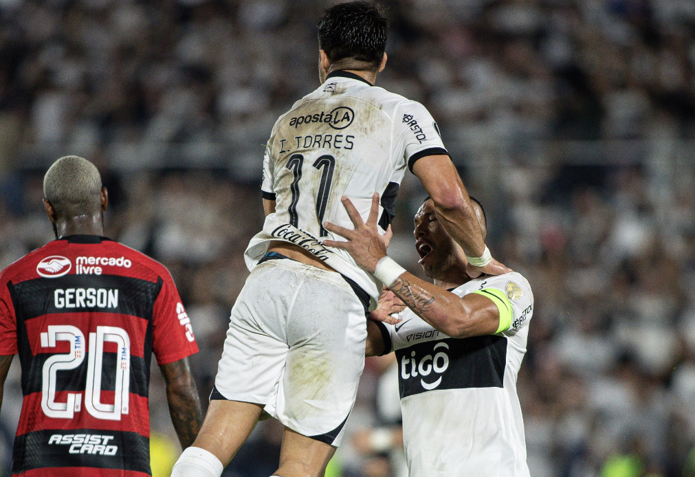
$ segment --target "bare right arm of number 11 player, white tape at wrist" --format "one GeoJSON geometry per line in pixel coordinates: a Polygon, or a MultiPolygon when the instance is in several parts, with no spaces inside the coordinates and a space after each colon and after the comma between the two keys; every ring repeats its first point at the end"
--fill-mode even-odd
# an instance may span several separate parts
{"type": "MultiPolygon", "coordinates": [[[[464,249],[468,261],[475,264],[476,258],[484,258],[485,242],[471,207],[471,198],[468,197],[468,191],[450,157],[436,154],[418,159],[413,164],[413,173],[432,197],[439,220],[449,235],[464,249]]],[[[500,275],[511,271],[492,257],[489,258],[491,261],[484,266],[469,266],[469,275],[500,275]]]]}

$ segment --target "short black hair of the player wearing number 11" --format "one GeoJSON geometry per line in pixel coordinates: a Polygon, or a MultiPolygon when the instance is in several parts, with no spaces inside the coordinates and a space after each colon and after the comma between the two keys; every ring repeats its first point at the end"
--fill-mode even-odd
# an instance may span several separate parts
{"type": "Polygon", "coordinates": [[[318,46],[335,63],[344,58],[381,65],[389,20],[374,3],[350,1],[327,8],[318,20],[318,46]]]}

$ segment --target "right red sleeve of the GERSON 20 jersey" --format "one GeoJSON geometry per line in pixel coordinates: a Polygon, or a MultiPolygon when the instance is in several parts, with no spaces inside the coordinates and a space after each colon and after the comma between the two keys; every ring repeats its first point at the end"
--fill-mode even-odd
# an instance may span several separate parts
{"type": "Polygon", "coordinates": [[[166,270],[160,280],[162,288],[152,316],[152,351],[161,365],[197,353],[198,345],[174,280],[166,270]]]}

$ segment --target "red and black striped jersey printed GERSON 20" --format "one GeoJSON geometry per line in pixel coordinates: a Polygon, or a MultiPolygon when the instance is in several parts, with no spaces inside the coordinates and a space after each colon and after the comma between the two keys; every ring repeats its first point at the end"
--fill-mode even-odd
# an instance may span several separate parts
{"type": "Polygon", "coordinates": [[[0,273],[0,355],[19,354],[20,476],[145,477],[149,362],[198,350],[167,269],[115,241],[56,240],[0,273]]]}

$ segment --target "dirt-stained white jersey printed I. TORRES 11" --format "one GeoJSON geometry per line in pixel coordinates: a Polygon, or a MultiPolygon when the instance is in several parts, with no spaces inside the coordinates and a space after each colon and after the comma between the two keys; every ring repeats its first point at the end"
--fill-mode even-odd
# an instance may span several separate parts
{"type": "Polygon", "coordinates": [[[370,85],[349,72],[326,82],[282,115],[272,130],[263,161],[263,197],[275,213],[246,250],[250,270],[272,240],[309,250],[357,282],[373,299],[380,284],[343,250],[322,239],[343,240],[322,227],[325,221],[352,229],[341,203],[352,200],[366,220],[372,195],[381,197],[379,225],[391,222],[405,168],[421,157],[448,154],[430,113],[417,102],[370,85]]]}

